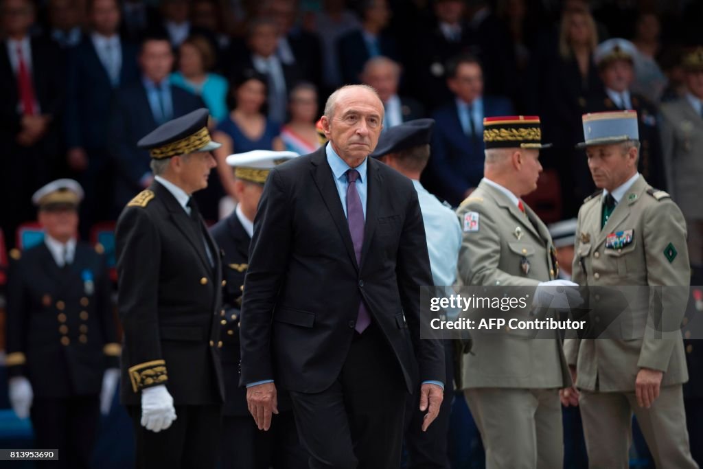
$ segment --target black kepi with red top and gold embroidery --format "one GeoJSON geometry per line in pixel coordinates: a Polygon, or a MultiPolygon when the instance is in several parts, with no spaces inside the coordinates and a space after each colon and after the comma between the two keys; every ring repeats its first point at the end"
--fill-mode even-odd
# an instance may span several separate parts
{"type": "Polygon", "coordinates": [[[490,148],[549,148],[542,143],[542,129],[536,115],[484,118],[484,143],[490,148]]]}

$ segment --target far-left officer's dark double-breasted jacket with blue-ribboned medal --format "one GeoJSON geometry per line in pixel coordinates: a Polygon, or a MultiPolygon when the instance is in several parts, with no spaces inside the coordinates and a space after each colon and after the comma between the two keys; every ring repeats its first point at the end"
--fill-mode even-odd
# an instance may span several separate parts
{"type": "Polygon", "coordinates": [[[41,243],[13,261],[7,291],[8,374],[29,378],[34,397],[98,394],[120,354],[103,255],[79,242],[59,267],[41,243]]]}

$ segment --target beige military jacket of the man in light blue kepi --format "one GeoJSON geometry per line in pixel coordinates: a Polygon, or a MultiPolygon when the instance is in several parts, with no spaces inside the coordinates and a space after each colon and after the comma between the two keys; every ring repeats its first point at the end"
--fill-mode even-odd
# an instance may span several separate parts
{"type": "MultiPolygon", "coordinates": [[[[591,311],[599,311],[602,301],[598,286],[631,285],[620,289],[629,306],[610,321],[612,339],[565,340],[567,361],[576,365],[576,386],[633,391],[640,368],[664,371],[662,385],[685,383],[688,373],[678,326],[688,300],[690,268],[681,210],[669,194],[654,190],[640,175],[601,229],[602,198],[602,193],[592,195],[579,210],[572,280],[588,285],[584,296],[591,311]],[[650,308],[654,292],[636,285],[670,285],[661,295],[666,324],[661,335],[647,327],[656,319],[652,312],[659,310],[650,308]]],[[[591,316],[594,325],[599,319],[598,313],[591,316]]]]}

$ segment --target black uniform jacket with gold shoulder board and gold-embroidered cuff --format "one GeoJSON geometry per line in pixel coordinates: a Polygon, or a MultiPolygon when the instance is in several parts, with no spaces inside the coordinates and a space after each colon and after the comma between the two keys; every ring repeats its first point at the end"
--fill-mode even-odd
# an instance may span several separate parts
{"type": "Polygon", "coordinates": [[[122,211],[115,243],[122,402],[138,405],[143,388],[165,384],[175,405],[220,403],[221,267],[202,219],[154,182],[122,211]]]}

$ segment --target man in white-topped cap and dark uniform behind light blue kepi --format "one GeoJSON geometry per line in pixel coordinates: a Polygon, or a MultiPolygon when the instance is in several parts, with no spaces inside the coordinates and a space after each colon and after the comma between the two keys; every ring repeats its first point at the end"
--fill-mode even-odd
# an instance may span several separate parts
{"type": "Polygon", "coordinates": [[[630,86],[635,79],[634,60],[637,49],[625,39],[608,39],[595,49],[593,58],[605,85],[588,101],[588,113],[632,109],[637,111],[640,133],[638,171],[652,186],[666,190],[662,139],[659,136],[657,106],[630,86]]]}

